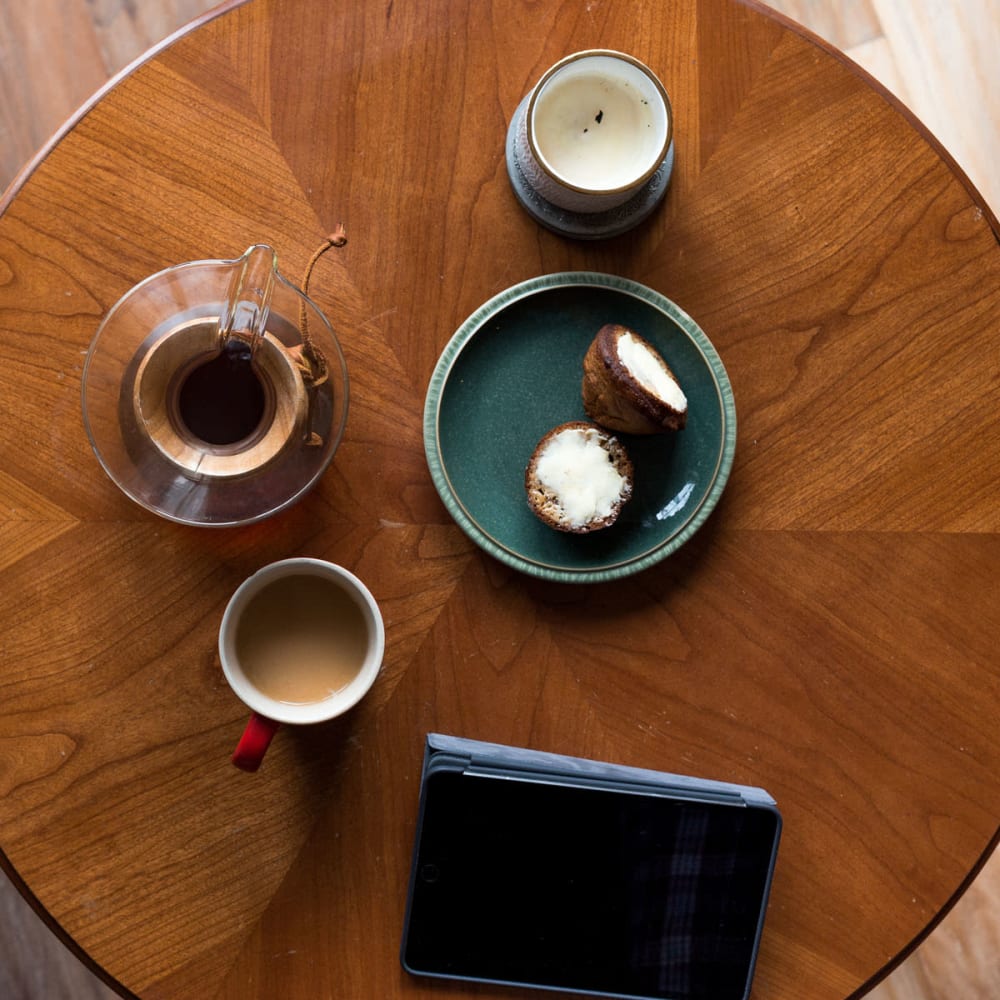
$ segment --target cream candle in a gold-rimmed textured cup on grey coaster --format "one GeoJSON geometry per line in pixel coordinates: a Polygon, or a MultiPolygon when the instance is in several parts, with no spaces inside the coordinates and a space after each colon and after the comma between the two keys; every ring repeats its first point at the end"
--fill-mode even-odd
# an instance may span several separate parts
{"type": "Polygon", "coordinates": [[[670,99],[638,59],[588,49],[546,71],[518,108],[511,138],[520,175],[538,196],[568,212],[607,212],[663,165],[670,99]]]}

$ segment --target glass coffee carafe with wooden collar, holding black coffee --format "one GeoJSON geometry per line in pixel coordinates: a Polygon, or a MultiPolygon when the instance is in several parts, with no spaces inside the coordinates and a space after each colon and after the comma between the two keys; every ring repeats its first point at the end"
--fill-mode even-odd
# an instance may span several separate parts
{"type": "Polygon", "coordinates": [[[136,285],[101,323],[83,372],[105,471],[184,524],[248,524],[294,503],[330,464],[347,405],[329,321],[265,245],[136,285]]]}

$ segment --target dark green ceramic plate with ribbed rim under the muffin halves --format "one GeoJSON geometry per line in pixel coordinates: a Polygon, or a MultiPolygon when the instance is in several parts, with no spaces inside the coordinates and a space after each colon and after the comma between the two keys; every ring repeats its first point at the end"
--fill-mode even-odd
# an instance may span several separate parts
{"type": "Polygon", "coordinates": [[[456,331],[427,391],[424,448],[449,513],[486,552],[543,579],[593,583],[646,569],[698,530],[732,467],[736,409],[715,348],[669,299],[612,275],[550,274],[501,292],[456,331]],[[587,419],[583,356],[605,323],[662,353],[687,394],[688,423],[673,435],[619,435],[633,498],[610,528],[573,535],[531,512],[524,470],[548,430],[587,419]]]}

